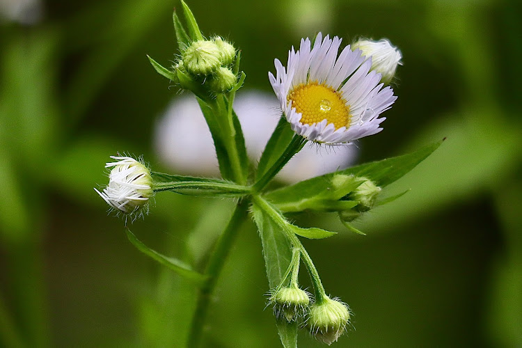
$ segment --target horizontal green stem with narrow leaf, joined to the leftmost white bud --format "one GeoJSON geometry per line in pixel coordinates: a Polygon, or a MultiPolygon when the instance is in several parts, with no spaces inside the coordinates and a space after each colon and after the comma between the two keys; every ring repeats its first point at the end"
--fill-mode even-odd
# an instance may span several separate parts
{"type": "Polygon", "coordinates": [[[238,197],[247,196],[251,188],[226,180],[191,177],[152,172],[152,189],[155,192],[173,191],[189,196],[238,197]]]}

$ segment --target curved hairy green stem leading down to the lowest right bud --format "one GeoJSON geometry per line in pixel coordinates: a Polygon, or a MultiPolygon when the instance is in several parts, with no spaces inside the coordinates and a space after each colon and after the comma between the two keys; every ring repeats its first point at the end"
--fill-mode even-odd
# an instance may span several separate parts
{"type": "Polygon", "coordinates": [[[292,232],[292,230],[290,230],[289,228],[286,228],[286,219],[280,214],[280,212],[277,211],[277,209],[275,209],[270,203],[268,203],[267,200],[264,200],[260,196],[255,195],[253,196],[253,201],[256,205],[258,205],[258,207],[263,209],[264,212],[269,214],[269,216],[271,216],[271,218],[274,219],[278,226],[281,227],[281,229],[285,232],[287,239],[290,241],[290,244],[292,244],[294,248],[299,249],[299,251],[301,252],[301,259],[306,265],[308,273],[310,274],[310,279],[312,280],[312,285],[314,287],[315,293],[315,301],[317,301],[317,303],[322,303],[322,301],[324,301],[324,298],[326,297],[326,292],[324,291],[324,287],[321,283],[321,278],[319,278],[319,272],[317,272],[312,258],[310,258],[310,255],[308,255],[306,248],[303,246],[303,244],[301,244],[301,241],[295,235],[295,233],[292,232]]]}

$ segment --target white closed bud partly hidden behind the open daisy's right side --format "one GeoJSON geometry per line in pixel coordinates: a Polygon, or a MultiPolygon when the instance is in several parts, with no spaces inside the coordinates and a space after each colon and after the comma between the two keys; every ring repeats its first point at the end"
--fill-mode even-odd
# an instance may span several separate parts
{"type": "Polygon", "coordinates": [[[391,45],[387,39],[358,40],[351,45],[351,49],[361,49],[363,56],[372,57],[372,70],[381,74],[381,81],[385,84],[389,84],[395,76],[397,65],[402,65],[400,50],[391,45]]]}

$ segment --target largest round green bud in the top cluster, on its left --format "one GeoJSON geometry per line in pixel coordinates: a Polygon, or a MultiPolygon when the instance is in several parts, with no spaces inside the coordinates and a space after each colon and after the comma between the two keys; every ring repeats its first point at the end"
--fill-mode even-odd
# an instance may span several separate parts
{"type": "Polygon", "coordinates": [[[221,65],[221,53],[214,41],[198,40],[182,54],[184,68],[193,75],[208,75],[221,65]]]}

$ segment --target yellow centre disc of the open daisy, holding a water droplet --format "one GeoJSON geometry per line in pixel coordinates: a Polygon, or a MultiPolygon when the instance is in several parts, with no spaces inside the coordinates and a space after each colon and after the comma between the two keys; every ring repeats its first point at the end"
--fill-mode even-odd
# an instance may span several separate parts
{"type": "Polygon", "coordinates": [[[300,84],[288,94],[288,100],[292,100],[292,107],[303,115],[301,123],[305,125],[322,120],[333,123],[335,129],[350,125],[350,107],[342,95],[329,86],[317,82],[300,84]]]}

